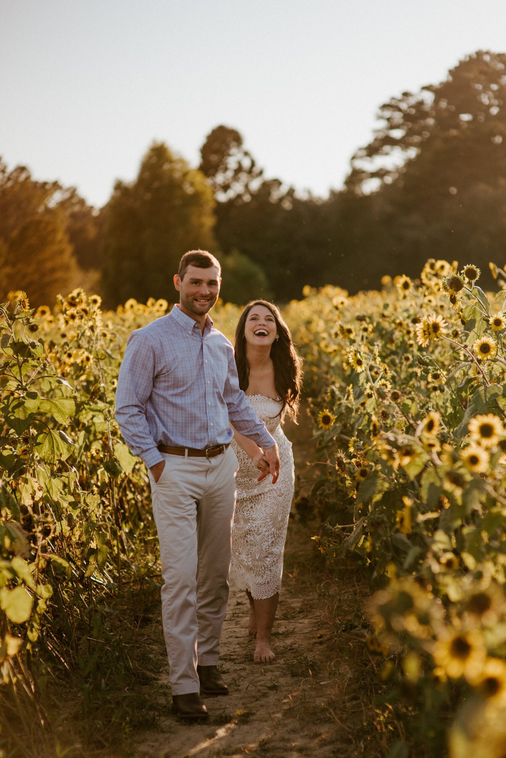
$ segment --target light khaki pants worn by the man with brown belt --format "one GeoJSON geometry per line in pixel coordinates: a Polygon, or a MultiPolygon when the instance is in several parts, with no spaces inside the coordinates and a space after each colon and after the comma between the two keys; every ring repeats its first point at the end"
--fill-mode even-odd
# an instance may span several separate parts
{"type": "Polygon", "coordinates": [[[229,595],[236,453],[211,459],[163,454],[151,496],[160,540],[161,609],[173,695],[198,692],[197,662],[214,666],[229,595]]]}

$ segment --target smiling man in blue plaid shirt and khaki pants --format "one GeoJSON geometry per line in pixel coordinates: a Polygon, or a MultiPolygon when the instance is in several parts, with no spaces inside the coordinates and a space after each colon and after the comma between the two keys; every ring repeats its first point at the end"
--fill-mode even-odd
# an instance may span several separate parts
{"type": "Polygon", "coordinates": [[[173,712],[186,719],[208,715],[199,693],[228,694],[217,660],[238,468],[229,419],[264,449],[260,478],[276,481],[280,468],[275,440],[239,390],[233,346],[208,315],[220,273],[208,252],[183,255],[180,303],[130,335],[116,392],[123,437],[148,468],[173,712]]]}

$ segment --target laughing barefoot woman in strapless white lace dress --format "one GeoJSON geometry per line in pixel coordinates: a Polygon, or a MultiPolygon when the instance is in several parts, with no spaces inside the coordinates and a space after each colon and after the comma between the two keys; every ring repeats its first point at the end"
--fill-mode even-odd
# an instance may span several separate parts
{"type": "Polygon", "coordinates": [[[280,597],[283,551],[294,488],[292,443],[281,428],[288,413],[295,421],[301,388],[301,359],[276,305],[248,302],[236,329],[239,386],[265,422],[280,449],[276,484],[258,477],[263,450],[234,430],[239,459],[237,504],[232,529],[231,572],[245,590],[250,615],[248,632],[256,637],[253,659],[273,660],[270,634],[280,597]]]}

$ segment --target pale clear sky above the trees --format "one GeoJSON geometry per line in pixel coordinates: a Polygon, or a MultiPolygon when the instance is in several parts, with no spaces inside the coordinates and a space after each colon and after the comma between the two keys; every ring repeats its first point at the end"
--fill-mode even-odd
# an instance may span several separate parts
{"type": "Polygon", "coordinates": [[[153,139],[197,165],[226,124],[326,196],[382,102],[477,49],[504,0],[0,0],[0,155],[102,205],[153,139]]]}

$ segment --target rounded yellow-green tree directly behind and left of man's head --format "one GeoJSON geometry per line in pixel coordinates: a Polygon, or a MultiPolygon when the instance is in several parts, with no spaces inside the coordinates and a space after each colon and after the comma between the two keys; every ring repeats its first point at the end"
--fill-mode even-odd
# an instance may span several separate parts
{"type": "Polygon", "coordinates": [[[110,305],[173,297],[173,274],[190,249],[216,252],[214,198],[198,169],[164,143],[148,150],[133,183],[118,180],[104,208],[102,286],[110,305]]]}

